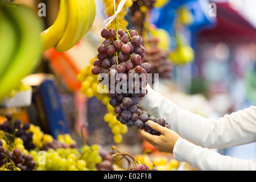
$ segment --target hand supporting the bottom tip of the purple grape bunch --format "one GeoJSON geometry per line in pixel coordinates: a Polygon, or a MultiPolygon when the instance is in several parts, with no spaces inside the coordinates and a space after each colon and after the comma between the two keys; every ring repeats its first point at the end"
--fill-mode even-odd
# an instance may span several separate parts
{"type": "Polygon", "coordinates": [[[180,136],[174,131],[167,129],[166,127],[160,126],[158,125],[158,123],[155,123],[153,121],[148,121],[147,123],[151,127],[151,129],[159,131],[162,135],[151,135],[150,133],[147,133],[142,129],[136,130],[142,135],[142,137],[146,139],[148,143],[152,144],[152,146],[154,146],[160,152],[172,153],[172,151],[174,150],[174,145],[177,139],[180,138],[180,136]]]}

